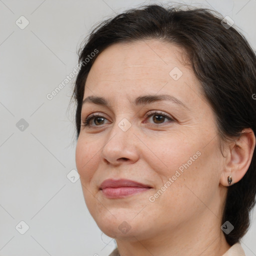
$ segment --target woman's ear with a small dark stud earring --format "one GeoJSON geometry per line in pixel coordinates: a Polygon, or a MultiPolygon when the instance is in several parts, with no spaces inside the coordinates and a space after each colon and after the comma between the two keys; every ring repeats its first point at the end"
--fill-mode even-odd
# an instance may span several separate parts
{"type": "Polygon", "coordinates": [[[251,128],[245,128],[241,135],[228,144],[224,168],[220,177],[220,184],[228,186],[227,177],[231,176],[231,184],[238,182],[249,168],[255,148],[255,135],[251,128]]]}

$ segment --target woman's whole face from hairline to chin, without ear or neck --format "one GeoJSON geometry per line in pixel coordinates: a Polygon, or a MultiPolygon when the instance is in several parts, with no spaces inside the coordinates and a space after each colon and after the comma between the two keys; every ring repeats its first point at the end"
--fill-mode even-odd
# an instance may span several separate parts
{"type": "Polygon", "coordinates": [[[215,118],[180,53],[156,39],[117,43],[88,74],[81,119],[100,117],[81,126],[76,166],[88,210],[111,237],[177,234],[220,213],[215,118]]]}

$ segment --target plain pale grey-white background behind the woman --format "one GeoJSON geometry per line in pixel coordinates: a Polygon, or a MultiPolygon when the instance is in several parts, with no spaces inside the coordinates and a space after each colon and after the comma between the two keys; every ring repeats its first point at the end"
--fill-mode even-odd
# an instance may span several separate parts
{"type": "MultiPolygon", "coordinates": [[[[66,177],[75,169],[74,79],[51,100],[46,94],[72,72],[95,23],[155,2],[163,1],[0,0],[0,255],[104,256],[114,248],[88,213],[79,179],[66,177]],[[15,23],[21,15],[24,29],[15,23]],[[24,234],[15,229],[21,220],[24,234]]],[[[256,48],[256,0],[182,2],[230,16],[256,48]]],[[[242,239],[246,256],[256,255],[255,218],[242,239]]]]}

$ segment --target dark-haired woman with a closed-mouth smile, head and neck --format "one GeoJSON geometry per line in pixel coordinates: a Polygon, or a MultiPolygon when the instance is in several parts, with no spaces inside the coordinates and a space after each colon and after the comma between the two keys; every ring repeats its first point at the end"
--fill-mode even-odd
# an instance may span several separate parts
{"type": "Polygon", "coordinates": [[[110,255],[244,255],[256,193],[246,39],[208,9],[148,5],[99,24],[79,63],[76,166],[110,255]]]}

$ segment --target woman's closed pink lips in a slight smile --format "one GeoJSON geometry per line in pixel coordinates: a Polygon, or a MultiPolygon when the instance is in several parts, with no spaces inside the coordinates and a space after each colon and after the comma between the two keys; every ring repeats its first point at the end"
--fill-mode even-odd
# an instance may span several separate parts
{"type": "Polygon", "coordinates": [[[123,198],[150,188],[148,185],[128,179],[106,179],[99,187],[107,198],[123,198]]]}

